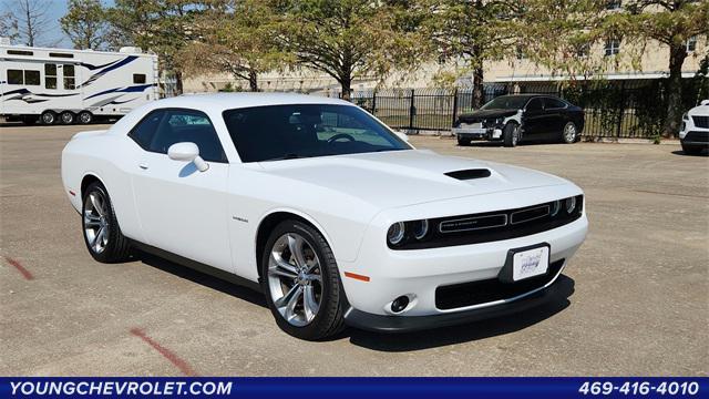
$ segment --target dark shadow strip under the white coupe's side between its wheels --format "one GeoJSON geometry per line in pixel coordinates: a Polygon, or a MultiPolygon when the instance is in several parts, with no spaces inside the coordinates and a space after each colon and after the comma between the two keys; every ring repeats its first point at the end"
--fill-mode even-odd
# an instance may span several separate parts
{"type": "Polygon", "coordinates": [[[250,304],[258,305],[268,309],[266,298],[264,294],[258,293],[249,287],[238,285],[233,282],[225,280],[223,278],[214,277],[209,274],[183,266],[181,264],[171,262],[160,256],[148,254],[142,250],[135,250],[133,255],[134,260],[138,260],[144,265],[155,267],[165,273],[169,273],[174,276],[187,279],[192,283],[216,289],[220,293],[230,295],[233,297],[246,300],[250,304]]]}

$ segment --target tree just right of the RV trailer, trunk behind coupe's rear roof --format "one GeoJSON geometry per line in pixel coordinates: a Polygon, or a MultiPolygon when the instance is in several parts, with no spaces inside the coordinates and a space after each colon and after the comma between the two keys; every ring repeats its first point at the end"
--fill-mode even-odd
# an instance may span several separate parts
{"type": "Polygon", "coordinates": [[[182,70],[177,54],[195,40],[194,19],[208,1],[115,0],[106,9],[107,41],[113,47],[136,45],[155,52],[162,69],[173,74],[182,93],[182,70]]]}

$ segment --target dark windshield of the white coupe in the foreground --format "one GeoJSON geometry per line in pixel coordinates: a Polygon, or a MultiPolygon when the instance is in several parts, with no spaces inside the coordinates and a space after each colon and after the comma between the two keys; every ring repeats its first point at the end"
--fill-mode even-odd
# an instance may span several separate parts
{"type": "Polygon", "coordinates": [[[224,111],[242,162],[411,150],[357,106],[269,105],[224,111]]]}

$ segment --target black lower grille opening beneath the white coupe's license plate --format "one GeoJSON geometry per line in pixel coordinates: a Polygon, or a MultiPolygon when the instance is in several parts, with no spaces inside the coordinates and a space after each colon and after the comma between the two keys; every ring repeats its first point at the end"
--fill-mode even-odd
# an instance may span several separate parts
{"type": "Polygon", "coordinates": [[[564,259],[549,264],[545,275],[517,283],[502,283],[497,278],[441,286],[435,289],[435,307],[441,310],[510,299],[547,285],[556,277],[564,259]]]}

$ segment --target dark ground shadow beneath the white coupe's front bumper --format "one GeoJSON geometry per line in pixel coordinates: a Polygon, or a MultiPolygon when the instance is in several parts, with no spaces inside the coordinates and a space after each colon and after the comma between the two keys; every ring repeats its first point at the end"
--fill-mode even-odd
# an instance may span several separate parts
{"type": "Polygon", "coordinates": [[[400,352],[436,348],[511,334],[546,320],[571,305],[568,298],[574,294],[574,279],[562,275],[555,284],[558,285],[555,297],[543,305],[518,314],[466,325],[405,334],[380,334],[349,328],[339,337],[335,337],[335,339],[349,337],[352,345],[367,349],[400,352]]]}

